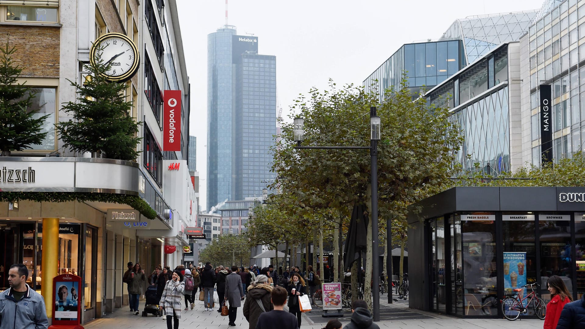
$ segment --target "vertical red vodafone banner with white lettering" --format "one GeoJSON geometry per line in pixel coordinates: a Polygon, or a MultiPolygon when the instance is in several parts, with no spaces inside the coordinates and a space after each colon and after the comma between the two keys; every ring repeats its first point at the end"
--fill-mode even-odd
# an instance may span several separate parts
{"type": "Polygon", "coordinates": [[[164,91],[163,151],[181,150],[181,91],[164,91]]]}

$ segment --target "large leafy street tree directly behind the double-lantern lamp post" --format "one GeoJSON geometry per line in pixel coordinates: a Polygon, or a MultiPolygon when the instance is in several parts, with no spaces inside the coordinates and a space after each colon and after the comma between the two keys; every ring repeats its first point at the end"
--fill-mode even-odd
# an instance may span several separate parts
{"type": "MultiPolygon", "coordinates": [[[[377,106],[382,136],[378,144],[380,222],[404,211],[396,209],[397,204],[410,204],[425,197],[431,187],[448,183],[455,160],[451,150],[459,149],[461,143],[457,127],[448,120],[448,109],[429,108],[422,99],[412,101],[405,80],[386,92],[387,101],[378,104],[375,92],[331,82],[328,90],[312,88],[307,97],[301,95],[292,107],[304,118],[304,145],[367,146],[370,106],[377,106]]],[[[273,149],[273,171],[287,178],[274,183],[283,193],[294,191],[301,205],[333,209],[346,218],[354,203],[370,204],[367,150],[294,149],[292,124],[283,125],[281,140],[282,145],[273,149]]],[[[371,283],[371,236],[369,241],[366,287],[371,283]]],[[[369,289],[365,297],[369,300],[369,289]]]]}

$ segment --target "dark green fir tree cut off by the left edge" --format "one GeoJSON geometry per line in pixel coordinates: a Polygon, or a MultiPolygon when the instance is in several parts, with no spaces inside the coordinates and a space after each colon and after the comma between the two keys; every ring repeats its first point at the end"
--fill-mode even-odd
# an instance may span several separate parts
{"type": "Polygon", "coordinates": [[[49,115],[39,116],[38,109],[30,109],[35,93],[18,83],[22,68],[12,59],[16,47],[6,41],[0,53],[0,150],[3,156],[9,156],[12,150],[28,149],[43,142],[47,136],[47,132],[42,132],[43,122],[49,115]]]}

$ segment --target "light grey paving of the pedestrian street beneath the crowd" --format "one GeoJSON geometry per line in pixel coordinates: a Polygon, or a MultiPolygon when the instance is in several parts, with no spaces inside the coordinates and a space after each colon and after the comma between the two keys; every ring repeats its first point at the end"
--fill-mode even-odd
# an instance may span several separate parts
{"type": "MultiPolygon", "coordinates": [[[[217,298],[217,296],[216,296],[217,298]]],[[[184,305],[184,301],[183,301],[184,305]]],[[[544,321],[536,319],[516,320],[511,323],[505,319],[462,319],[444,316],[436,313],[429,313],[425,311],[408,309],[405,303],[394,303],[392,306],[381,303],[382,307],[395,309],[394,311],[400,318],[401,314],[410,313],[406,319],[401,320],[383,320],[378,322],[380,328],[393,329],[534,329],[542,328],[544,321]],[[400,310],[402,309],[402,310],[400,310]],[[418,318],[416,318],[418,316],[418,318]],[[412,318],[416,318],[412,320],[412,318]],[[410,320],[407,320],[410,319],[410,320]]],[[[141,309],[144,308],[144,300],[140,300],[141,309]]],[[[318,313],[317,311],[311,313],[318,313]]],[[[321,329],[325,327],[325,323],[329,318],[322,318],[318,314],[305,313],[302,318],[302,329],[321,329]]],[[[384,311],[383,314],[387,312],[384,311]]],[[[347,324],[351,313],[344,313],[345,316],[339,318],[343,325],[347,324]]],[[[222,317],[217,308],[214,311],[205,311],[202,301],[195,301],[193,310],[181,313],[181,320],[179,328],[181,329],[195,329],[195,328],[231,328],[228,327],[228,317],[222,317]]],[[[384,317],[381,317],[384,319],[384,317]]],[[[161,317],[155,317],[149,314],[147,317],[142,317],[140,314],[135,316],[130,313],[129,307],[124,306],[113,313],[107,314],[105,317],[98,318],[85,324],[86,329],[111,329],[111,328],[128,328],[128,329],[152,329],[152,328],[166,328],[166,320],[161,317]]],[[[235,328],[248,328],[248,322],[242,314],[242,307],[238,309],[238,318],[236,320],[235,328]]]]}

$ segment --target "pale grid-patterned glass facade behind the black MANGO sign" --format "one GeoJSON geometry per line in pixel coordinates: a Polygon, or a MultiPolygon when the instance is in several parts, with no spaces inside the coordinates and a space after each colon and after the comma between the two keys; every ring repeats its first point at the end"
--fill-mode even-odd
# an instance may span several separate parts
{"type": "Polygon", "coordinates": [[[525,61],[522,124],[531,127],[524,129],[522,155],[524,162],[537,166],[543,152],[539,85],[549,84],[552,90],[553,160],[584,150],[585,140],[585,1],[545,5],[520,40],[525,61]]]}

